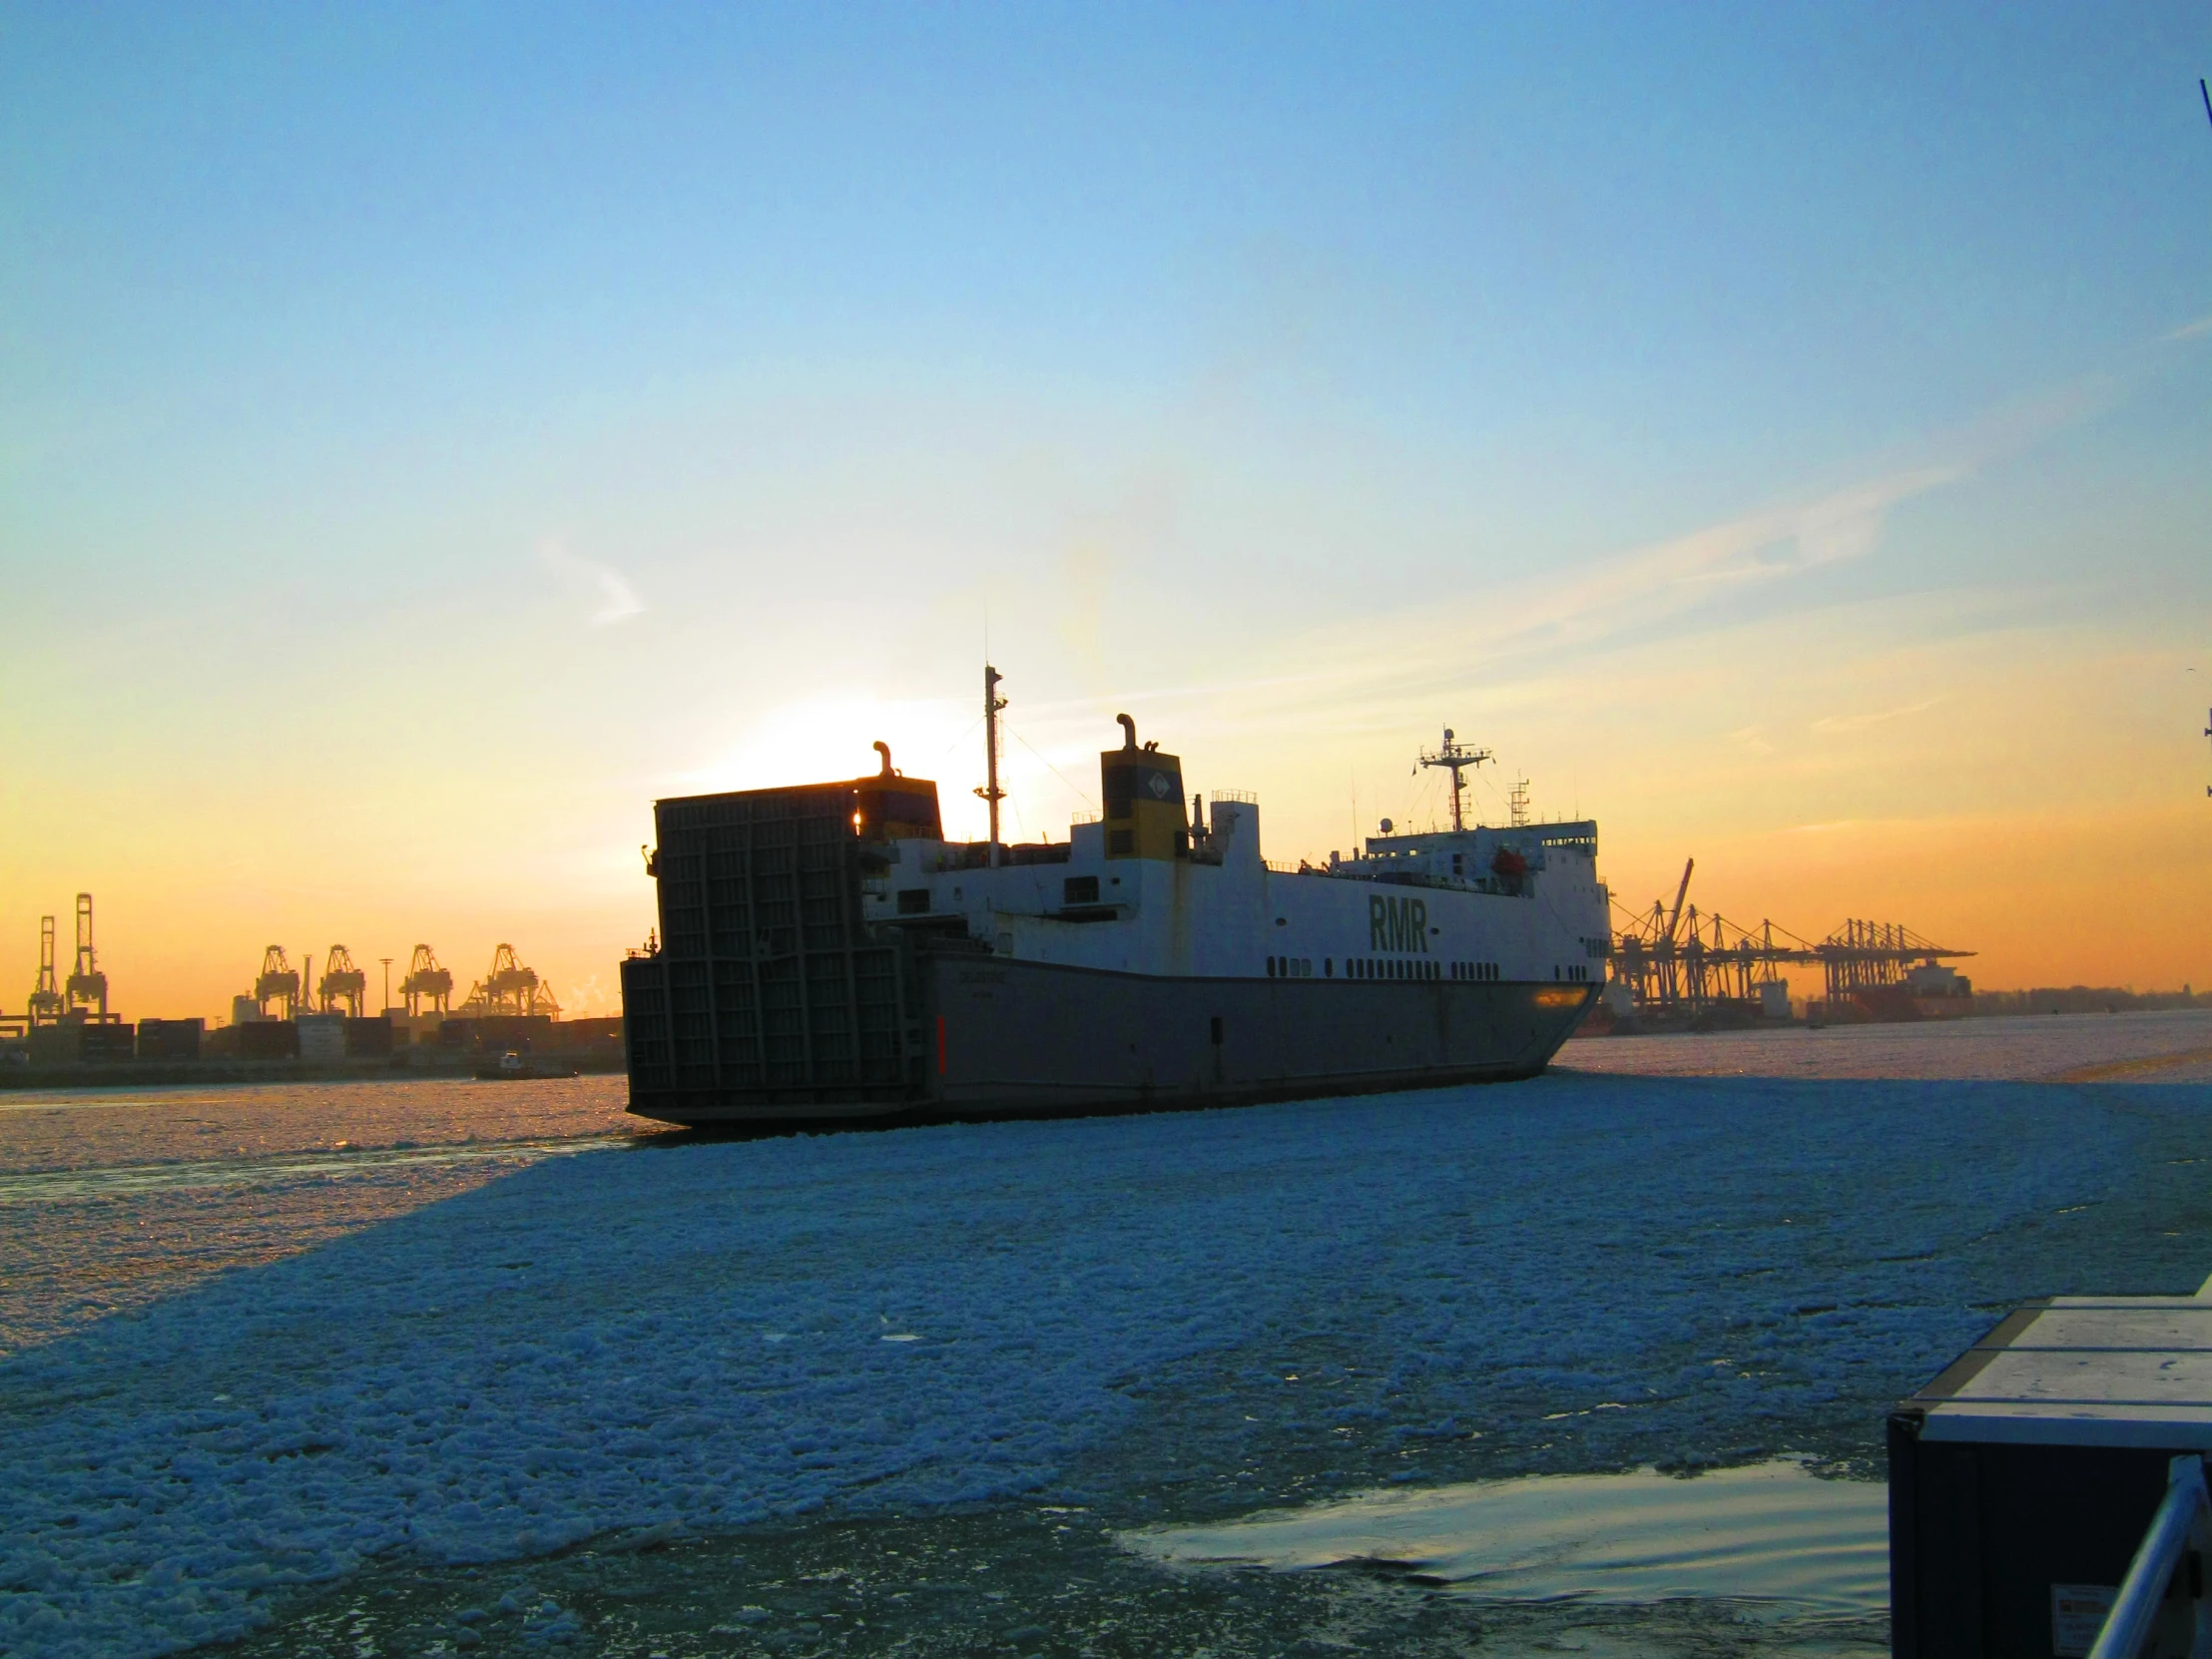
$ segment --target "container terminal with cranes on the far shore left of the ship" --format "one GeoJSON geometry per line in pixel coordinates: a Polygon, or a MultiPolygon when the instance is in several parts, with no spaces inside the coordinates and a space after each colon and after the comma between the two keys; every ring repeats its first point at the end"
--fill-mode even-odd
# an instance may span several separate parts
{"type": "MultiPolygon", "coordinates": [[[[566,1018],[553,987],[513,945],[456,1004],[451,969],[416,945],[392,984],[383,962],[383,1011],[369,1013],[369,975],[345,945],[294,967],[281,945],[261,953],[250,991],[230,1000],[228,1024],[124,1020],[93,940],[93,896],[77,894],[77,949],[69,975],[55,960],[55,918],[40,918],[38,980],[22,1013],[0,1011],[0,1084],[226,1079],[232,1075],[383,1075],[484,1071],[487,1057],[529,1057],[529,1075],[617,1071],[622,1020],[566,1018]]],[[[509,1075],[515,1066],[509,1066],[509,1075]]],[[[487,1071],[487,1075],[493,1075],[487,1071]]]]}

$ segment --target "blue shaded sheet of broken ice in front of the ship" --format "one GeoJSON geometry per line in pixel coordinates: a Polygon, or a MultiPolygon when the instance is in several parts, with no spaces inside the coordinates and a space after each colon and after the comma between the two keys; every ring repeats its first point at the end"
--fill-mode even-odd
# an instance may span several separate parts
{"type": "Polygon", "coordinates": [[[2013,1301],[2197,1290],[2208,1117],[1553,1073],[549,1157],[0,1360],[0,1648],[175,1652],[586,1540],[1871,1475],[1882,1409],[2013,1301]]]}

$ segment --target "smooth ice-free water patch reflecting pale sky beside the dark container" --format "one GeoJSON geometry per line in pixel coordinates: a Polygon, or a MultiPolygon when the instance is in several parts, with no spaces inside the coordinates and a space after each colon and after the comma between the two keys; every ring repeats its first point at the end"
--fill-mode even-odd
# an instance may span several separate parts
{"type": "Polygon", "coordinates": [[[1887,1498],[1776,1460],[1697,1480],[1639,1469],[1363,1493],[1124,1544],[1175,1566],[1387,1564],[1515,1601],[1703,1597],[1869,1615],[1889,1606],[1887,1498]]]}

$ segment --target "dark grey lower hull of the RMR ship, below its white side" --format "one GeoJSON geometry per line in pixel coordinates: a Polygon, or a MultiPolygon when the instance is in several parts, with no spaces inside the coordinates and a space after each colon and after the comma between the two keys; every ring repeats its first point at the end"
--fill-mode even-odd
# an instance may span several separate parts
{"type": "MultiPolygon", "coordinates": [[[[1223,980],[945,956],[920,964],[922,1077],[900,1099],[633,1093],[672,1124],[1234,1106],[1540,1073],[1595,984],[1223,980]]],[[[858,1093],[858,1091],[856,1091],[858,1093]]]]}

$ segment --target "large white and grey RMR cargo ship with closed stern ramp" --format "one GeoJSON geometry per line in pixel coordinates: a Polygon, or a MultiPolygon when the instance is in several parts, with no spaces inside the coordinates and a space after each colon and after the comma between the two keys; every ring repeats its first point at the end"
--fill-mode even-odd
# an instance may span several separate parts
{"type": "MultiPolygon", "coordinates": [[[[1540,1073],[1604,984],[1597,825],[1467,825],[1270,865],[1250,794],[1099,754],[1066,841],[947,841],[869,776],[655,803],[653,942],[622,964],[630,1110],[821,1124],[1228,1106],[1540,1073]]],[[[1486,759],[1486,757],[1482,757],[1486,759]]]]}

